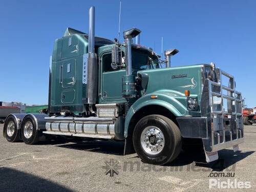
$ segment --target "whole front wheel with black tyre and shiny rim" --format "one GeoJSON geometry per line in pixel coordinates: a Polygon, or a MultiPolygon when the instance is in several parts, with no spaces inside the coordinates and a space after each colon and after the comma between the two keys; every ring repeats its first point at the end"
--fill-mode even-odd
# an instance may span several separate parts
{"type": "Polygon", "coordinates": [[[179,155],[182,139],[172,120],[162,115],[148,115],[136,124],[133,144],[142,161],[163,165],[179,155]]]}

